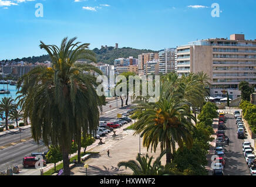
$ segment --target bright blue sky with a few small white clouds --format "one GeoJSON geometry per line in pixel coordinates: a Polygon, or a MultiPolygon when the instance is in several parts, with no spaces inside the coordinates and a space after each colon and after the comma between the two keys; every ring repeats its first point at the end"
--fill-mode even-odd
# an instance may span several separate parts
{"type": "Polygon", "coordinates": [[[255,22],[255,0],[0,0],[0,60],[41,56],[41,40],[59,46],[67,36],[90,49],[162,50],[234,33],[254,40],[255,22]]]}

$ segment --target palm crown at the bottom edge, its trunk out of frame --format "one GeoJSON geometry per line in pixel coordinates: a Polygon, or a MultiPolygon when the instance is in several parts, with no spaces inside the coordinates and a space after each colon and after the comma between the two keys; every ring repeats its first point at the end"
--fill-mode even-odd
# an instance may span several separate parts
{"type": "Polygon", "coordinates": [[[119,162],[117,166],[125,167],[132,169],[133,175],[174,175],[173,172],[170,171],[170,165],[166,165],[164,167],[161,164],[161,158],[163,155],[166,154],[166,151],[163,151],[159,157],[156,158],[156,160],[153,161],[153,157],[149,157],[147,154],[146,157],[142,157],[140,154],[137,155],[136,161],[129,160],[129,161],[123,161],[119,162]]]}

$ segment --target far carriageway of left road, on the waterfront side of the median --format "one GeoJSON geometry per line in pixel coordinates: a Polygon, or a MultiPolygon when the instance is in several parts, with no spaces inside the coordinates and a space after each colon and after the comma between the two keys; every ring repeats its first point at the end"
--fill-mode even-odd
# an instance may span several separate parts
{"type": "Polygon", "coordinates": [[[14,133],[5,134],[0,137],[0,147],[6,146],[8,144],[18,142],[20,139],[25,139],[31,137],[31,129],[24,129],[21,132],[17,131],[14,133]]]}

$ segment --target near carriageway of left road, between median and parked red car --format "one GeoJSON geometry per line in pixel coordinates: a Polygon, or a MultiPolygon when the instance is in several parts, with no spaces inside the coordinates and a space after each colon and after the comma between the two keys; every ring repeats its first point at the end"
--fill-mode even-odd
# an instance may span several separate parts
{"type": "Polygon", "coordinates": [[[35,141],[26,141],[16,146],[0,150],[0,170],[6,170],[8,166],[21,165],[23,157],[29,156],[31,153],[47,151],[42,141],[37,144],[35,141]]]}

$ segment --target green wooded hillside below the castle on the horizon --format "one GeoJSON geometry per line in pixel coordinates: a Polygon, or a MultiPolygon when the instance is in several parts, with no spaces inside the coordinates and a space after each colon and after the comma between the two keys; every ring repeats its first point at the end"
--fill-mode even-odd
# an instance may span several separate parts
{"type": "MultiPolygon", "coordinates": [[[[114,59],[116,58],[129,58],[134,57],[138,58],[139,54],[142,53],[156,53],[157,51],[152,50],[140,50],[140,49],[133,49],[130,47],[123,47],[121,49],[114,49],[114,47],[107,47],[106,49],[93,49],[96,53],[97,63],[102,62],[106,64],[113,64],[114,59]]],[[[43,55],[39,57],[28,57],[28,58],[16,58],[12,59],[11,61],[26,61],[28,63],[43,63],[44,61],[50,61],[50,57],[48,55],[43,55]]]]}

